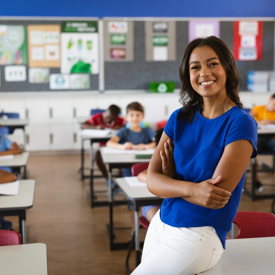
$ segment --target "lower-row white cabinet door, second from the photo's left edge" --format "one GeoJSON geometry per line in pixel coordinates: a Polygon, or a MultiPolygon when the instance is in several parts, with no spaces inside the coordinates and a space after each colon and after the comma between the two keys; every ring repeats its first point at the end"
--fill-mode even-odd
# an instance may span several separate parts
{"type": "Polygon", "coordinates": [[[50,148],[49,124],[31,124],[26,127],[26,150],[45,151],[50,148]]]}

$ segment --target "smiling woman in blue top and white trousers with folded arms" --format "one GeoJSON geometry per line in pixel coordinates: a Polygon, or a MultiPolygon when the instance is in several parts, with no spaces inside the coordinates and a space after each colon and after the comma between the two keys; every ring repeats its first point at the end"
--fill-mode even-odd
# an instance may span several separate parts
{"type": "Polygon", "coordinates": [[[229,47],[215,36],[193,40],[179,73],[183,107],[169,118],[147,174],[150,192],[165,200],[134,275],[192,275],[214,266],[249,159],[257,155],[257,123],[242,108],[241,76],[229,47]],[[162,174],[162,159],[170,163],[170,177],[162,174]]]}

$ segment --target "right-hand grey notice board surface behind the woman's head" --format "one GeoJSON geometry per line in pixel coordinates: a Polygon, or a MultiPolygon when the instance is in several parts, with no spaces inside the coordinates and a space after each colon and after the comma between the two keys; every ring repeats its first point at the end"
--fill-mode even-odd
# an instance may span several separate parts
{"type": "MultiPolygon", "coordinates": [[[[233,49],[233,21],[220,22],[220,38],[233,49]]],[[[147,90],[150,81],[171,80],[179,89],[178,67],[188,45],[188,21],[176,21],[176,60],[145,61],[145,22],[134,21],[134,61],[104,62],[105,90],[147,90]]],[[[263,22],[262,60],[237,61],[243,78],[241,90],[246,90],[247,71],[273,70],[274,21],[263,22]]]]}

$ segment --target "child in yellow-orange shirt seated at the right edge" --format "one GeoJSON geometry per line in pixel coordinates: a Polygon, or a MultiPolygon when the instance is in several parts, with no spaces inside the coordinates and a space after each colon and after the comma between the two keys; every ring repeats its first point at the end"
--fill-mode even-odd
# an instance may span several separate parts
{"type": "MultiPolygon", "coordinates": [[[[250,111],[251,116],[259,125],[275,124],[275,94],[273,94],[266,105],[255,106],[250,111]]],[[[275,151],[275,139],[273,138],[258,138],[258,152],[262,150],[275,151]]],[[[259,192],[262,192],[264,187],[259,180],[258,161],[255,159],[255,187],[259,192]]]]}

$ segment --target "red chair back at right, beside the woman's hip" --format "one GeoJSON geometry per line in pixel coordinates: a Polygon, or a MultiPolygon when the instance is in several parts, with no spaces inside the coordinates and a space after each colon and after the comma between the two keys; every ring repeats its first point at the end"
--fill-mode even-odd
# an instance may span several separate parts
{"type": "Polygon", "coordinates": [[[272,213],[239,211],[233,223],[239,227],[235,239],[275,237],[275,215],[272,213]]]}

